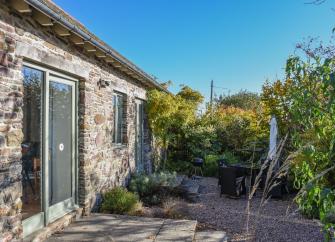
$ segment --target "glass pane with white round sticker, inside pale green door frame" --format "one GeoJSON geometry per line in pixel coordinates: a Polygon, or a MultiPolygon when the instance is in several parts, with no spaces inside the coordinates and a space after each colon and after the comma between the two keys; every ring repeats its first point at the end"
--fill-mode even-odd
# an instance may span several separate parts
{"type": "Polygon", "coordinates": [[[72,197],[72,86],[49,84],[49,203],[72,197]]]}

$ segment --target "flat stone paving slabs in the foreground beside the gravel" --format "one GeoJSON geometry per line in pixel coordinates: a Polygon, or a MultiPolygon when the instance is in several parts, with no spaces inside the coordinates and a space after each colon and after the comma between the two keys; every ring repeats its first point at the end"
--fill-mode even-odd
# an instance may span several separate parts
{"type": "Polygon", "coordinates": [[[196,225],[196,221],[190,220],[94,214],[78,220],[47,241],[192,242],[196,225]]]}

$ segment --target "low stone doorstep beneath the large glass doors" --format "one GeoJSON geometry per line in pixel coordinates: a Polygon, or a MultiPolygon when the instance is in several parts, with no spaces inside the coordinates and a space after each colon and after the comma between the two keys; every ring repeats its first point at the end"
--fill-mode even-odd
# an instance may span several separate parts
{"type": "Polygon", "coordinates": [[[72,222],[78,220],[82,216],[82,208],[78,208],[63,217],[57,219],[46,227],[32,233],[23,239],[24,242],[40,242],[45,241],[51,235],[62,231],[64,228],[69,226],[72,222]]]}

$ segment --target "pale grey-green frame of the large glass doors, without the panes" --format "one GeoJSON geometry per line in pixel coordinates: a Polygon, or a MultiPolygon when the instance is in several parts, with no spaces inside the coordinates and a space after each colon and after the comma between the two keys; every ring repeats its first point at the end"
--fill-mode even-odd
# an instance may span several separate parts
{"type": "Polygon", "coordinates": [[[78,208],[78,80],[49,68],[24,61],[23,67],[44,73],[41,83],[41,212],[23,220],[23,237],[41,229],[56,219],[78,208]],[[50,81],[72,87],[72,198],[49,206],[49,83],[50,81]]]}

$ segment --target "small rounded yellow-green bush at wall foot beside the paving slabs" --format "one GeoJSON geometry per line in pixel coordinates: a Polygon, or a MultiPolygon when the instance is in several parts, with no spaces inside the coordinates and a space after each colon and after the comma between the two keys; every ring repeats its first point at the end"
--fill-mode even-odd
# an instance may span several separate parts
{"type": "Polygon", "coordinates": [[[137,196],[125,188],[116,187],[103,195],[102,211],[105,213],[129,214],[138,207],[137,196]]]}

